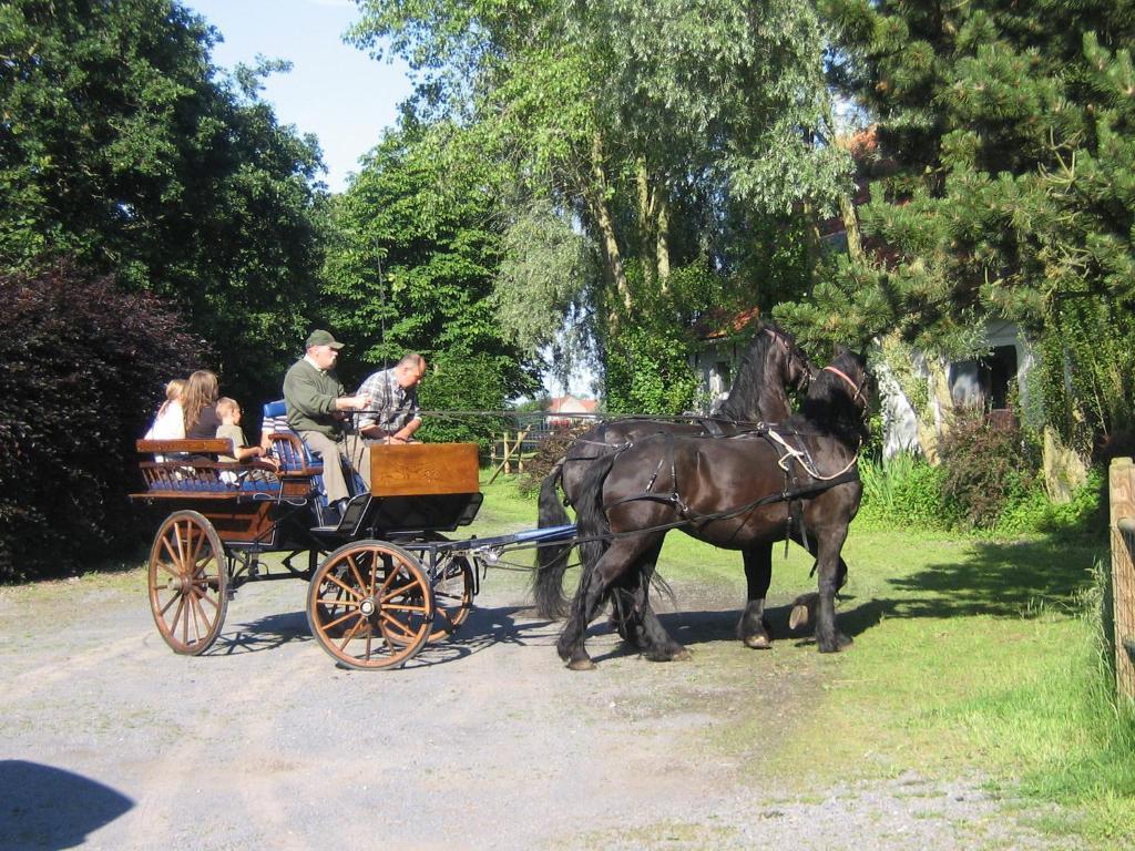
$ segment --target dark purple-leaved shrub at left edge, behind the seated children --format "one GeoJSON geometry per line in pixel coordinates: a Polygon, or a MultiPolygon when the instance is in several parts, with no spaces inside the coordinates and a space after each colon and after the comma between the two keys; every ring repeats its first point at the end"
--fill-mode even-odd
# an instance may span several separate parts
{"type": "Polygon", "coordinates": [[[0,276],[0,581],[61,575],[140,538],[134,440],[201,344],[158,298],[59,266],[0,276]]]}

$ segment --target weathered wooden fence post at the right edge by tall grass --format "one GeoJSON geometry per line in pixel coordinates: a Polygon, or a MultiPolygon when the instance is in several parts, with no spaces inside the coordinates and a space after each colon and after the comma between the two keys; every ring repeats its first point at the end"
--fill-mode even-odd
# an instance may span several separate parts
{"type": "Polygon", "coordinates": [[[1111,597],[1116,621],[1116,689],[1135,701],[1135,464],[1113,458],[1108,470],[1111,519],[1111,597]]]}

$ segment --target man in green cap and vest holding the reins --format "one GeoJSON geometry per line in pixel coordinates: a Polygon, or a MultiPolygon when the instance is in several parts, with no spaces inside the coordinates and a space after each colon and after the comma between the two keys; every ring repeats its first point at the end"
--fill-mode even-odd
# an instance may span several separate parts
{"type": "Polygon", "coordinates": [[[288,426],[299,432],[308,447],[323,462],[323,488],[327,500],[340,514],[350,499],[342,456],[359,471],[370,487],[370,449],[358,435],[348,435],[345,411],[361,411],[370,405],[370,396],[347,396],[335,374],[335,362],[343,344],[330,331],[317,329],[304,344],[303,357],[292,364],[284,377],[284,402],[288,426]]]}

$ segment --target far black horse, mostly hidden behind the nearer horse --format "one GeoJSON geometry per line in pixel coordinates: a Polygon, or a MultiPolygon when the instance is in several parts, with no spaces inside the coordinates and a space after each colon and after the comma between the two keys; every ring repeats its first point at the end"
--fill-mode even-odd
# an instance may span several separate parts
{"type": "MultiPolygon", "coordinates": [[[[772,323],[762,323],[748,352],[741,359],[729,399],[721,411],[701,423],[675,423],[657,420],[628,419],[604,422],[582,435],[568,454],[553,467],[540,486],[540,529],[571,522],[563,503],[578,505],[580,486],[591,464],[629,445],[655,435],[707,436],[735,435],[762,423],[782,422],[792,413],[787,390],[804,393],[815,373],[792,335],[772,323]],[[563,503],[556,486],[564,492],[563,503]]],[[[563,596],[563,574],[568,567],[570,547],[541,547],[537,550],[537,570],[533,574],[533,597],[537,610],[544,617],[566,614],[563,596]]],[[[738,622],[737,633],[753,648],[771,647],[768,624],[764,617],[765,597],[772,580],[772,544],[756,542],[742,550],[747,583],[746,607],[738,622]]],[[[841,562],[841,571],[846,566],[841,562]]],[[[633,632],[625,627],[628,618],[653,618],[649,612],[648,587],[620,588],[615,592],[619,631],[629,641],[633,632]]],[[[808,616],[808,597],[798,599],[799,623],[808,616]]]]}

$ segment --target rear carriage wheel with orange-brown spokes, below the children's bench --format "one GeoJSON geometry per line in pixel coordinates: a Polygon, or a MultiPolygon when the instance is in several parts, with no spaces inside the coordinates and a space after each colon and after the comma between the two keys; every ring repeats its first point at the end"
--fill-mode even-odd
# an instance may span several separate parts
{"type": "Polygon", "coordinates": [[[174,652],[200,656],[228,608],[228,565],[217,530],[197,512],[174,512],[150,549],[150,609],[174,652]]]}

